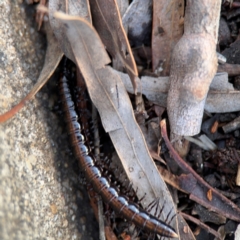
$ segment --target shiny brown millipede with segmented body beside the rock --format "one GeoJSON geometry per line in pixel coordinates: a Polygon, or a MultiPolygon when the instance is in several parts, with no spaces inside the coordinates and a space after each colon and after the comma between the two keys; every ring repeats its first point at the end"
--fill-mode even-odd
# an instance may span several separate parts
{"type": "Polygon", "coordinates": [[[76,103],[69,89],[68,78],[66,74],[59,80],[59,91],[62,102],[62,111],[65,114],[65,121],[68,126],[73,151],[79,161],[80,168],[84,172],[87,182],[93,190],[99,194],[103,201],[108,204],[117,214],[121,215],[127,221],[135,224],[136,227],[145,230],[151,234],[177,238],[175,230],[167,223],[159,220],[157,217],[140,209],[136,204],[131,203],[126,197],[121,196],[118,191],[111,186],[109,180],[103,176],[101,168],[96,165],[96,158],[87,146],[86,136],[82,131],[76,111],[76,103]]]}

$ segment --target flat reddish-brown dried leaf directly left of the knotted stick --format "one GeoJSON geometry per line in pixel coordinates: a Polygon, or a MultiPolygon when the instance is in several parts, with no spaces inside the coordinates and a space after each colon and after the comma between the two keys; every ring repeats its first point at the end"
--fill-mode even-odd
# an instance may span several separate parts
{"type": "Polygon", "coordinates": [[[169,76],[174,46],[183,35],[184,0],[153,0],[152,68],[169,76]]]}

